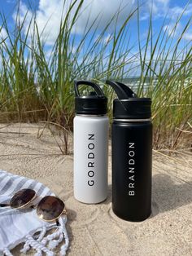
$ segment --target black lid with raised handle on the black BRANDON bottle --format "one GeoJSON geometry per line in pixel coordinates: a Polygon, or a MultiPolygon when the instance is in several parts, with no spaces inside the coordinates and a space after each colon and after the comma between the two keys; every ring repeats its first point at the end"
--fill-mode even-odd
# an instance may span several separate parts
{"type": "Polygon", "coordinates": [[[137,98],[137,95],[121,82],[106,82],[115,91],[118,99],[113,101],[115,119],[148,119],[151,118],[151,99],[137,98]]]}

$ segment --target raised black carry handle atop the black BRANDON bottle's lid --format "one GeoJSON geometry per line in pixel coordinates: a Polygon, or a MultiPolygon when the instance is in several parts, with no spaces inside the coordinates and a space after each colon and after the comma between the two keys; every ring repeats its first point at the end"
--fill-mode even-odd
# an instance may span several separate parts
{"type": "Polygon", "coordinates": [[[116,91],[116,95],[119,99],[137,98],[137,95],[133,92],[133,90],[131,90],[129,86],[124,85],[122,82],[107,80],[106,83],[116,91]]]}

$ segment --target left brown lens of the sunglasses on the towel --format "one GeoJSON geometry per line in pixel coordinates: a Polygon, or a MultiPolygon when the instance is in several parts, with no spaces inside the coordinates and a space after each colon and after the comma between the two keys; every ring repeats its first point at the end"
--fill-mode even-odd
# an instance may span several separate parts
{"type": "Polygon", "coordinates": [[[10,206],[12,208],[21,208],[24,205],[27,205],[29,201],[32,201],[35,197],[36,192],[32,189],[22,189],[19,192],[16,192],[15,195],[11,198],[10,206]]]}

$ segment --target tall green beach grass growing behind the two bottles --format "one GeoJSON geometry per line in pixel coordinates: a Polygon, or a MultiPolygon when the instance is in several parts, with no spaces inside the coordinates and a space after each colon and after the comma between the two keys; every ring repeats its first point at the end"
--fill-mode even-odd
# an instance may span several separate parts
{"type": "Polygon", "coordinates": [[[68,7],[60,22],[58,38],[49,51],[35,12],[30,19],[28,12],[21,17],[18,5],[14,29],[7,24],[6,15],[0,13],[0,33],[2,29],[6,31],[6,37],[0,39],[0,121],[55,123],[63,127],[67,143],[74,117],[74,79],[90,79],[103,86],[110,117],[116,95],[105,80],[127,81],[138,96],[152,99],[154,148],[170,152],[191,150],[192,45],[185,41],[191,18],[177,35],[183,14],[171,29],[164,21],[159,31],[154,32],[151,13],[143,38],[137,7],[121,26],[117,22],[121,13],[118,10],[102,30],[98,27],[102,20],[98,16],[92,24],[87,22],[81,34],[76,34],[83,2],[76,0],[68,7]],[[133,20],[137,20],[134,44],[129,34],[133,20]]]}

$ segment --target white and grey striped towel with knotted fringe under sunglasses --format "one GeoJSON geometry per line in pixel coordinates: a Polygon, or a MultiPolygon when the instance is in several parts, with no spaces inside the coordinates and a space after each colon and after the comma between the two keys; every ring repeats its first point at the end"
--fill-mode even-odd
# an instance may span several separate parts
{"type": "MultiPolygon", "coordinates": [[[[49,188],[33,179],[27,179],[0,170],[0,203],[9,203],[11,197],[23,188],[31,188],[37,192],[37,196],[55,196],[49,188]]],[[[55,255],[55,249],[61,242],[60,255],[65,255],[68,249],[68,233],[65,223],[67,216],[59,218],[59,228],[54,233],[46,235],[46,232],[57,227],[56,223],[47,223],[37,217],[37,211],[15,210],[11,207],[0,207],[0,255],[11,256],[11,249],[24,242],[21,252],[26,253],[29,249],[36,249],[35,256],[46,253],[48,256],[55,255]],[[38,235],[34,236],[35,233],[38,235]]]]}

